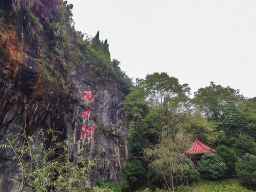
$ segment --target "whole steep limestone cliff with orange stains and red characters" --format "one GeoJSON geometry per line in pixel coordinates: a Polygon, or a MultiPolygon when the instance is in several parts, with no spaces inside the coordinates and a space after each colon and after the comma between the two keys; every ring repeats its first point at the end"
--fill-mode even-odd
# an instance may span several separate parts
{"type": "MultiPolygon", "coordinates": [[[[122,123],[125,115],[122,107],[124,93],[117,74],[112,75],[111,71],[104,74],[104,69],[99,74],[96,68],[100,61],[97,60],[97,47],[92,49],[91,43],[85,42],[82,45],[86,45],[86,51],[83,52],[79,47],[81,44],[75,44],[78,37],[70,24],[59,21],[61,25],[66,25],[66,34],[61,37],[56,35],[57,29],[51,28],[56,22],[50,23],[50,20],[54,18],[51,15],[54,10],[51,9],[57,5],[51,7],[49,2],[68,7],[65,2],[41,1],[40,11],[35,13],[40,19],[38,25],[41,25],[41,30],[35,27],[30,29],[25,26],[25,21],[17,21],[24,13],[12,13],[11,1],[7,2],[0,3],[0,141],[5,141],[4,135],[10,133],[18,134],[25,130],[26,134],[33,135],[40,129],[58,130],[64,140],[73,137],[75,127],[75,139],[79,141],[82,127],[87,129],[93,126],[93,130],[82,139],[83,148],[73,146],[71,155],[82,150],[86,157],[97,156],[105,160],[93,167],[90,172],[92,180],[120,179],[128,147],[125,141],[127,128],[122,123]],[[11,17],[7,18],[8,15],[11,17]],[[47,26],[47,23],[50,24],[47,26]],[[56,35],[55,39],[52,34],[56,35]],[[47,41],[53,43],[48,44],[47,41]],[[61,41],[69,44],[61,45],[61,41]],[[58,46],[63,46],[64,51],[57,52],[58,46]],[[65,46],[68,49],[64,49],[65,46]],[[81,55],[74,59],[72,54],[77,51],[81,55]],[[89,91],[93,101],[85,95],[89,91]],[[87,109],[91,112],[86,112],[86,118],[86,114],[82,114],[87,109]]],[[[33,11],[35,7],[32,5],[33,11]]],[[[96,40],[98,43],[99,39],[96,40]]],[[[100,62],[104,68],[104,62],[100,62]]],[[[105,66],[105,69],[107,71],[108,68],[105,66]]],[[[0,149],[0,191],[11,191],[18,183],[15,176],[19,170],[10,159],[11,155],[10,150],[0,149]]]]}

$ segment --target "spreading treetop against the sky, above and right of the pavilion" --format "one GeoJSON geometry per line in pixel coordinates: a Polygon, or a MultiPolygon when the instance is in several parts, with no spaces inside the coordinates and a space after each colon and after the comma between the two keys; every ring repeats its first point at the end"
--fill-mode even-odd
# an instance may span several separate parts
{"type": "Polygon", "coordinates": [[[239,92],[229,86],[222,87],[211,82],[210,86],[200,88],[194,93],[193,102],[197,110],[206,118],[219,119],[222,115],[223,105],[230,102],[238,104],[243,101],[244,97],[239,92]]]}

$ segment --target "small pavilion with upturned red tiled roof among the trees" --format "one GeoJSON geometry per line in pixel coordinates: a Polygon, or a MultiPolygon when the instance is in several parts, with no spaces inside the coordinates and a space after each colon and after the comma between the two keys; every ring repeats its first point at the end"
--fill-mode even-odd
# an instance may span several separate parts
{"type": "Polygon", "coordinates": [[[193,164],[195,165],[195,167],[197,167],[196,161],[201,159],[201,156],[204,153],[210,152],[210,151],[214,152],[215,150],[213,148],[207,147],[206,145],[198,141],[196,137],[196,140],[193,143],[193,145],[188,150],[185,150],[185,152],[182,155],[190,156],[192,158],[193,164]]]}

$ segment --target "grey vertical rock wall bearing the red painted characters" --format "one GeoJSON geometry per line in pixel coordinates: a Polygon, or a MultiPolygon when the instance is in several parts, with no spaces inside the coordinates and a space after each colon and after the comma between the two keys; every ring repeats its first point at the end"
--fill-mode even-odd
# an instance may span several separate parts
{"type": "MultiPolygon", "coordinates": [[[[79,66],[78,66],[79,67],[79,66]]],[[[82,68],[82,66],[80,66],[82,68]]],[[[72,114],[66,114],[65,124],[71,121],[76,123],[76,153],[82,153],[90,159],[97,157],[98,161],[90,173],[91,178],[100,181],[108,178],[113,181],[120,179],[121,165],[128,157],[128,147],[125,141],[127,128],[122,123],[125,115],[122,102],[119,101],[117,84],[108,84],[105,87],[92,87],[90,81],[84,81],[86,71],[72,71],[73,95],[71,106],[72,114]],[[84,99],[84,91],[91,91],[93,101],[84,99]],[[91,110],[88,118],[82,116],[83,110],[91,110]],[[70,119],[69,119],[70,118],[70,119]],[[80,139],[82,125],[86,128],[93,126],[92,138],[80,139]],[[80,147],[79,147],[79,146],[80,147]],[[78,151],[77,151],[78,150],[78,151]]],[[[74,125],[73,125],[74,126],[74,125]]],[[[68,129],[67,135],[73,134],[73,127],[68,129]]]]}

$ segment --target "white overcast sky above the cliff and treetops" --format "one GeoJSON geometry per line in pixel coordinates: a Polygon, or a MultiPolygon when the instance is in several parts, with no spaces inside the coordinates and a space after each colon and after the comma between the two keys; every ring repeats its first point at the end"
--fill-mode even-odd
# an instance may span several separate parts
{"type": "Polygon", "coordinates": [[[256,97],[256,1],[68,0],[76,30],[107,39],[131,78],[164,71],[191,93],[215,84],[256,97]]]}

